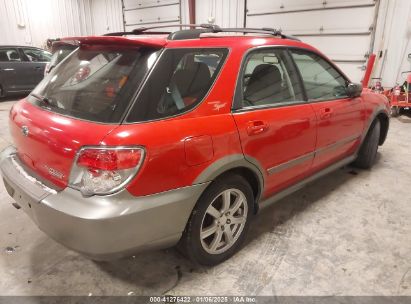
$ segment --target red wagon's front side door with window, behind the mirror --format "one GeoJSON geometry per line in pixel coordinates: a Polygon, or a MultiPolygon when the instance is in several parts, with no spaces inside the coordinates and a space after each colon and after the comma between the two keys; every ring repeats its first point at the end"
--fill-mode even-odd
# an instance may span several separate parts
{"type": "Polygon", "coordinates": [[[317,144],[313,170],[319,170],[352,154],[364,128],[361,97],[350,98],[349,80],[328,60],[314,52],[290,50],[317,115],[317,144]]]}

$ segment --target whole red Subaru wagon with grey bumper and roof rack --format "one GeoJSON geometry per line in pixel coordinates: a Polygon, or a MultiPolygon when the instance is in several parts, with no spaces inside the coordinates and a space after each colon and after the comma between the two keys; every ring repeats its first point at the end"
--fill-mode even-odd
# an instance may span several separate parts
{"type": "Polygon", "coordinates": [[[260,208],[375,162],[387,99],[312,46],[271,29],[145,30],[64,39],[77,48],[10,111],[5,187],[68,248],[104,260],[178,244],[217,264],[260,208]]]}

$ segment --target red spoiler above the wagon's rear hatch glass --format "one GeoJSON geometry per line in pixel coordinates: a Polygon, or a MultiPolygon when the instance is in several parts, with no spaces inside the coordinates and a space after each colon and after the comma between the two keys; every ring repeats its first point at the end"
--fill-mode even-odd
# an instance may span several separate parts
{"type": "Polygon", "coordinates": [[[87,36],[87,37],[65,37],[58,41],[59,44],[72,44],[80,46],[82,44],[99,44],[99,45],[122,45],[122,46],[147,46],[163,47],[166,45],[165,39],[153,39],[153,37],[107,37],[107,36],[87,36]]]}

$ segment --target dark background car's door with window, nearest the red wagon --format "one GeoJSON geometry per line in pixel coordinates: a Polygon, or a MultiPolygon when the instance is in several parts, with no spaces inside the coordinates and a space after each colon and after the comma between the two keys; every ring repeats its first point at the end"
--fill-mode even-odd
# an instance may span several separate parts
{"type": "Polygon", "coordinates": [[[25,61],[25,73],[27,74],[30,89],[43,79],[46,64],[50,62],[51,53],[37,48],[20,48],[21,55],[25,61]]]}

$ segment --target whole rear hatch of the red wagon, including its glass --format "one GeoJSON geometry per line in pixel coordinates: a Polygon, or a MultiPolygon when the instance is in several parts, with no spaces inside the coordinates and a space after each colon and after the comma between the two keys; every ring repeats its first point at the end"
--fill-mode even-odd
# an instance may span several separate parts
{"type": "Polygon", "coordinates": [[[158,45],[126,45],[124,40],[79,43],[11,110],[20,160],[58,188],[67,186],[78,150],[99,145],[121,123],[159,54],[158,45]]]}

